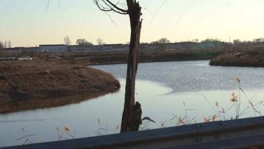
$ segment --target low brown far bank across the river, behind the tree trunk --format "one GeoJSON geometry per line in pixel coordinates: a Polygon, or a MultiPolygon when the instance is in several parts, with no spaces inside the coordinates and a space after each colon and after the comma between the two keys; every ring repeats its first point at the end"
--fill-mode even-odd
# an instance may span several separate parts
{"type": "MultiPolygon", "coordinates": [[[[209,60],[219,55],[221,50],[165,50],[144,51],[139,53],[139,63],[209,60]]],[[[57,56],[60,60],[71,61],[71,63],[82,63],[87,65],[124,64],[128,60],[128,52],[86,52],[86,53],[57,53],[49,54],[49,57],[57,56]]],[[[47,57],[48,57],[47,56],[47,57]]]]}

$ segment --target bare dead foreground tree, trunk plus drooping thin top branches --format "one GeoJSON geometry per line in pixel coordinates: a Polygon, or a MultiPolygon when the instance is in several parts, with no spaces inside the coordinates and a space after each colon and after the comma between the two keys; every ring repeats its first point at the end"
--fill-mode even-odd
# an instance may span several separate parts
{"type": "Polygon", "coordinates": [[[128,56],[126,93],[124,111],[122,115],[122,124],[120,132],[137,131],[141,124],[141,105],[135,103],[135,77],[138,65],[138,51],[141,33],[142,20],[140,17],[141,7],[137,0],[126,0],[126,3],[121,3],[120,0],[113,3],[112,0],[93,0],[93,2],[102,11],[116,12],[123,15],[129,15],[130,18],[130,50],[128,56]]]}

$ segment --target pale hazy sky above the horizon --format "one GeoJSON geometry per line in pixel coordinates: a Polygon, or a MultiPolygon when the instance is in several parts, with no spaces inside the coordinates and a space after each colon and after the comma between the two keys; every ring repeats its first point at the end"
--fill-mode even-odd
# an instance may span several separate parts
{"type": "MultiPolygon", "coordinates": [[[[164,1],[139,0],[143,13],[141,42],[162,37],[171,42],[264,37],[264,0],[164,1]]],[[[64,44],[66,36],[72,44],[80,38],[93,44],[98,38],[107,44],[130,41],[128,15],[110,12],[113,23],[92,0],[49,0],[48,8],[47,3],[0,0],[0,41],[10,40],[12,47],[64,44]]]]}

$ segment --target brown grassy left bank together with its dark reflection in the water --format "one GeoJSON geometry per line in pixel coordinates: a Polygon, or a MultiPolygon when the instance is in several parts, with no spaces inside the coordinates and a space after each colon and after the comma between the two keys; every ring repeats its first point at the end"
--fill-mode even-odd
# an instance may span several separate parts
{"type": "Polygon", "coordinates": [[[0,63],[0,113],[76,103],[119,88],[112,75],[85,65],[47,61],[0,63]]]}

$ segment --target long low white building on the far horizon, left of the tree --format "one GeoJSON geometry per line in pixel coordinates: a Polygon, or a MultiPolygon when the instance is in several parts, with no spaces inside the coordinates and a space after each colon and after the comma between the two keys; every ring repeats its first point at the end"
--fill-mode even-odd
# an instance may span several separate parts
{"type": "Polygon", "coordinates": [[[40,45],[40,52],[50,52],[50,53],[65,53],[67,52],[66,45],[40,45]]]}

